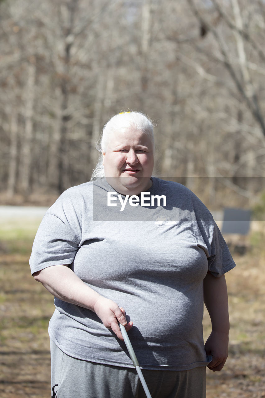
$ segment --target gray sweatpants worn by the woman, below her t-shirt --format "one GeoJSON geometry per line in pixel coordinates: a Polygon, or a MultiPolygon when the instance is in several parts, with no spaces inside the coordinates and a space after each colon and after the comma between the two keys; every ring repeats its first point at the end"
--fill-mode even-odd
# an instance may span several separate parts
{"type": "MultiPolygon", "coordinates": [[[[152,398],[205,398],[206,369],[142,370],[152,398]]],[[[82,361],[51,341],[51,386],[57,398],[146,398],[135,369],[82,361]]]]}

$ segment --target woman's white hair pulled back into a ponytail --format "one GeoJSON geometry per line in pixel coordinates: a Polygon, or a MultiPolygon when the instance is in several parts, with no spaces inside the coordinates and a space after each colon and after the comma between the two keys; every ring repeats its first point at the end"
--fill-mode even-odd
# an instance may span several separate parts
{"type": "Polygon", "coordinates": [[[96,145],[100,155],[92,172],[90,181],[105,177],[102,152],[105,152],[107,149],[111,133],[121,131],[121,129],[130,129],[132,131],[140,130],[142,133],[148,134],[154,147],[154,126],[146,115],[141,112],[122,112],[111,117],[105,124],[99,142],[96,145]]]}

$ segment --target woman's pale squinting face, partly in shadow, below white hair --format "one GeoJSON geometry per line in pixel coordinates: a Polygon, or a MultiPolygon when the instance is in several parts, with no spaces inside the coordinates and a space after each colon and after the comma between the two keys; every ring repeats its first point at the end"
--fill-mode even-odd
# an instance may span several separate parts
{"type": "Polygon", "coordinates": [[[140,130],[112,133],[103,152],[103,165],[107,181],[117,192],[138,195],[148,190],[154,168],[152,140],[140,130]]]}

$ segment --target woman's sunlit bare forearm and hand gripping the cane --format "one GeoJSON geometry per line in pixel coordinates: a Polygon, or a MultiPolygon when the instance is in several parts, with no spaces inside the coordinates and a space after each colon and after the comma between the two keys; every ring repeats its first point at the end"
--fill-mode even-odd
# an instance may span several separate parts
{"type": "Polygon", "coordinates": [[[33,277],[60,300],[95,312],[104,326],[113,330],[121,340],[123,337],[118,321],[127,331],[133,326],[133,322],[127,324],[123,308],[88,287],[67,265],[52,265],[33,273],[33,277]]]}

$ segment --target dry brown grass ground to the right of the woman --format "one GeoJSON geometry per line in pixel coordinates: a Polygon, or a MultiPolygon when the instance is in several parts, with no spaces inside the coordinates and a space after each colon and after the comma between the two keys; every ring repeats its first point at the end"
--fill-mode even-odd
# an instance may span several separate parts
{"type": "MultiPolygon", "coordinates": [[[[262,226],[263,227],[263,226],[262,226]]],[[[229,357],[221,372],[207,369],[207,398],[265,397],[265,229],[252,232],[246,255],[226,274],[230,312],[229,357]]],[[[205,314],[205,336],[210,322],[205,314]]]]}

